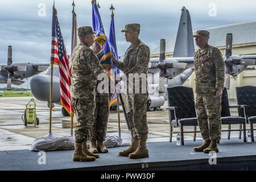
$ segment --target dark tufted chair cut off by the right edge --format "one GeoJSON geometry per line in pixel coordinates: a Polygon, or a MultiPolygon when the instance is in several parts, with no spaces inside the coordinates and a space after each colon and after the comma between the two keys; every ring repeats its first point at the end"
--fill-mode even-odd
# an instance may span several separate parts
{"type": "Polygon", "coordinates": [[[245,112],[238,110],[238,114],[247,118],[250,123],[251,141],[254,142],[253,124],[256,123],[256,86],[240,86],[236,88],[237,104],[246,105],[245,112]]]}

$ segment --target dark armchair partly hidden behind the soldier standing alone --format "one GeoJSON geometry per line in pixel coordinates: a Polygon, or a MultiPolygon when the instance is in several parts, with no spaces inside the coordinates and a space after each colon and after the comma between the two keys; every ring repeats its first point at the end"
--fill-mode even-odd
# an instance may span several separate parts
{"type": "Polygon", "coordinates": [[[230,108],[238,108],[245,110],[244,105],[229,105],[228,92],[226,88],[224,88],[222,97],[221,97],[221,125],[228,125],[228,139],[230,139],[230,131],[240,131],[239,138],[241,139],[241,131],[243,131],[243,142],[246,142],[246,118],[245,117],[232,117],[230,115],[230,108]],[[232,130],[231,125],[240,125],[240,129],[232,130]],[[243,129],[242,127],[243,126],[243,129]]]}

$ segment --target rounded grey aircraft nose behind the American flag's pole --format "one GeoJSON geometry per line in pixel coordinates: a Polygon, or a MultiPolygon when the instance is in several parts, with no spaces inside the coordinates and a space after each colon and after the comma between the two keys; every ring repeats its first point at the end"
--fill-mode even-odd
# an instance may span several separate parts
{"type": "MultiPolygon", "coordinates": [[[[35,75],[31,78],[30,89],[35,98],[40,101],[49,101],[50,80],[51,76],[49,75],[35,75]]],[[[60,102],[59,77],[56,76],[53,76],[52,101],[60,102]]]]}

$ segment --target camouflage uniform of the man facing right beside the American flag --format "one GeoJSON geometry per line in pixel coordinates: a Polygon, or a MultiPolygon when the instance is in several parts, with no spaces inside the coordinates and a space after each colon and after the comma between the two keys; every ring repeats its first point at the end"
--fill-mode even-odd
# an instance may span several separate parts
{"type": "Polygon", "coordinates": [[[84,42],[75,47],[72,55],[72,105],[78,125],[75,142],[86,141],[93,126],[97,76],[105,73],[98,58],[84,42]]]}

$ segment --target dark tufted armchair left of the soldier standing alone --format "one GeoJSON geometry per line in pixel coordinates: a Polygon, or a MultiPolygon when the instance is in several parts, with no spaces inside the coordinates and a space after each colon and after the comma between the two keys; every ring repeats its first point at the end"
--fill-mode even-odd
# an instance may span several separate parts
{"type": "Polygon", "coordinates": [[[187,86],[172,86],[167,88],[169,119],[170,119],[170,142],[172,142],[173,127],[180,127],[181,144],[184,145],[184,133],[194,133],[196,140],[197,117],[193,89],[187,86]],[[183,131],[184,126],[194,126],[193,131],[183,131]]]}

